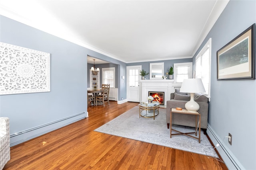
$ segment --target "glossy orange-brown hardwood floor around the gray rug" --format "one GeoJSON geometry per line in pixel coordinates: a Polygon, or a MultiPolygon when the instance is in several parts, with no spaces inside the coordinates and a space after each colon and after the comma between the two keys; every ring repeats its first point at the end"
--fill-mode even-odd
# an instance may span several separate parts
{"type": "MultiPolygon", "coordinates": [[[[90,106],[89,117],[11,147],[4,170],[227,170],[215,158],[95,132],[138,103],[90,106]]],[[[167,128],[167,127],[166,127],[167,128]]]]}

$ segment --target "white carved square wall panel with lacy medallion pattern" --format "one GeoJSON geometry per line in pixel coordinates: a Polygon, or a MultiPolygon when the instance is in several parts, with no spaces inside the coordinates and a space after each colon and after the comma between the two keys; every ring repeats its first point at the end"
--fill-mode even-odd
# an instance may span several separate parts
{"type": "Polygon", "coordinates": [[[50,92],[50,53],[0,42],[0,95],[50,92]]]}

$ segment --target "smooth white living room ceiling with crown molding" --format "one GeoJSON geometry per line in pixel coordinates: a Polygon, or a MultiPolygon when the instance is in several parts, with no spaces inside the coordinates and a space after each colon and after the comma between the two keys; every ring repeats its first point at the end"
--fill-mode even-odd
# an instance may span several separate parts
{"type": "Polygon", "coordinates": [[[0,0],[0,15],[125,63],[191,58],[228,0],[0,0]]]}

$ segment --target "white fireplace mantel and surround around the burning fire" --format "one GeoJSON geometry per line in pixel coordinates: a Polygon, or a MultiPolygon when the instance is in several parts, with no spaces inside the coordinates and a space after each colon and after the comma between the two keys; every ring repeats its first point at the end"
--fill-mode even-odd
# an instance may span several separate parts
{"type": "Polygon", "coordinates": [[[164,92],[164,105],[170,100],[171,93],[180,89],[181,83],[174,80],[140,80],[140,102],[148,100],[148,92],[164,92]]]}

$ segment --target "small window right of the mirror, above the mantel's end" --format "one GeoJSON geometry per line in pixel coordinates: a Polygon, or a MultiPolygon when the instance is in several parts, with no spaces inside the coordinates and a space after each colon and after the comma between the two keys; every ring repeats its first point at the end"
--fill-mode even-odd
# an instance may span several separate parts
{"type": "Polygon", "coordinates": [[[174,82],[182,83],[184,79],[192,78],[192,63],[174,63],[174,82]]]}

